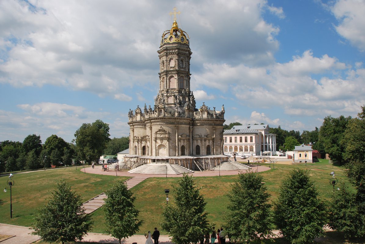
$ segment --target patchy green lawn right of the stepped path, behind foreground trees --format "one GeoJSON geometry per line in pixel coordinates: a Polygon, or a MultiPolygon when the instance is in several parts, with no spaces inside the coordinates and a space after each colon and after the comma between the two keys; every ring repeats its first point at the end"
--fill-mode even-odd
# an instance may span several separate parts
{"type": "MultiPolygon", "coordinates": [[[[262,165],[268,166],[268,164],[262,165]]],[[[332,178],[330,172],[335,171],[338,181],[345,181],[347,183],[345,169],[343,167],[333,166],[328,163],[328,160],[321,160],[321,162],[307,164],[307,166],[305,164],[276,164],[275,169],[260,173],[264,177],[269,193],[272,195],[270,198],[271,201],[276,199],[281,181],[288,177],[290,170],[295,168],[310,170],[311,179],[315,182],[320,197],[329,201],[333,194],[333,186],[329,182],[330,178],[332,178]]],[[[197,186],[202,187],[200,192],[205,195],[205,201],[207,202],[206,211],[209,213],[208,220],[214,222],[216,226],[220,226],[223,223],[222,216],[227,211],[226,204],[228,201],[225,193],[230,189],[230,185],[235,179],[237,179],[237,175],[196,177],[197,186]]],[[[177,181],[178,178],[149,178],[131,189],[137,197],[135,206],[141,211],[139,218],[144,221],[138,234],[153,230],[154,227],[159,228],[161,231],[158,223],[162,221],[161,212],[166,206],[164,189],[170,189],[171,193],[171,185],[177,181]]],[[[173,195],[169,194],[169,198],[169,204],[172,204],[173,195]]],[[[93,232],[99,233],[105,230],[102,219],[103,214],[102,209],[92,213],[93,219],[97,220],[93,226],[93,232]]],[[[161,234],[164,235],[167,233],[161,231],[161,234]]]]}

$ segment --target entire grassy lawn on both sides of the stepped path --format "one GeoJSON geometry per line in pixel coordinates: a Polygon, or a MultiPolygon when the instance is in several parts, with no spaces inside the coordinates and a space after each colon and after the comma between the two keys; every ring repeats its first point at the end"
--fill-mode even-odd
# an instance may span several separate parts
{"type": "MultiPolygon", "coordinates": [[[[262,165],[268,166],[268,164],[262,165]]],[[[328,163],[328,160],[322,159],[321,162],[308,163],[307,166],[305,164],[276,164],[275,169],[260,173],[264,177],[264,182],[268,187],[269,193],[272,195],[270,201],[276,199],[281,181],[288,177],[290,170],[295,168],[310,170],[311,179],[315,182],[320,197],[329,201],[333,194],[333,187],[329,183],[331,178],[330,172],[335,171],[338,181],[345,181],[347,183],[345,169],[328,163]]],[[[85,201],[103,192],[116,180],[115,176],[84,174],[75,168],[16,174],[14,177],[15,186],[13,188],[13,219],[11,220],[9,218],[9,192],[1,193],[0,222],[30,226],[36,208],[45,204],[43,200],[49,197],[49,191],[55,189],[55,184],[61,178],[64,178],[72,186],[72,189],[75,189],[77,193],[81,194],[85,201]]],[[[118,179],[126,178],[118,177],[118,179]]],[[[6,185],[7,179],[7,177],[0,178],[3,186],[6,185]]],[[[159,228],[162,235],[166,234],[166,232],[161,230],[159,224],[162,221],[161,212],[166,206],[164,189],[170,189],[171,193],[172,184],[176,184],[178,179],[149,178],[131,189],[137,197],[135,207],[141,211],[139,218],[144,221],[141,231],[138,234],[153,230],[154,227],[159,228]]],[[[220,226],[223,222],[222,216],[227,211],[227,197],[225,193],[230,189],[230,185],[235,179],[237,179],[237,175],[196,177],[197,186],[202,187],[201,194],[204,194],[205,201],[207,202],[206,210],[209,213],[208,220],[214,222],[215,226],[220,226]]],[[[169,194],[169,198],[169,204],[173,204],[173,195],[169,194]]],[[[103,209],[98,209],[92,213],[94,220],[92,232],[103,233],[105,231],[103,215],[103,209]]],[[[319,243],[346,243],[345,241],[337,242],[342,237],[336,233],[333,232],[327,235],[330,238],[329,241],[323,239],[319,243]]],[[[283,240],[276,239],[272,242],[283,243],[283,240]]]]}

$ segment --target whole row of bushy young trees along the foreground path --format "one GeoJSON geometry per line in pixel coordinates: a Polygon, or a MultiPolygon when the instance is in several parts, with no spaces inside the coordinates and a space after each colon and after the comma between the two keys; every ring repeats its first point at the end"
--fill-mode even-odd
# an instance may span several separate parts
{"type": "MultiPolygon", "coordinates": [[[[260,174],[240,173],[228,191],[228,213],[224,216],[224,236],[234,243],[253,243],[273,236],[278,228],[290,243],[307,244],[323,235],[323,226],[345,233],[345,237],[365,235],[364,164],[349,170],[357,193],[347,187],[334,193],[333,201],[318,198],[318,190],[308,171],[293,170],[280,186],[277,200],[269,204],[270,194],[260,174]],[[362,174],[362,175],[361,175],[362,174]],[[275,226],[275,227],[274,227],[275,226]]],[[[119,239],[134,235],[142,221],[134,207],[135,197],[119,181],[105,191],[104,220],[106,232],[119,239]]],[[[162,229],[172,237],[173,243],[198,243],[201,235],[211,232],[205,211],[206,202],[195,184],[195,178],[184,175],[173,185],[173,204],[163,212],[162,229]]],[[[35,217],[34,232],[45,241],[75,241],[91,229],[91,217],[81,207],[80,196],[61,181],[47,205],[35,217]],[[61,199],[62,198],[62,199],[61,199]],[[61,201],[62,200],[62,201],[61,201]]]]}

